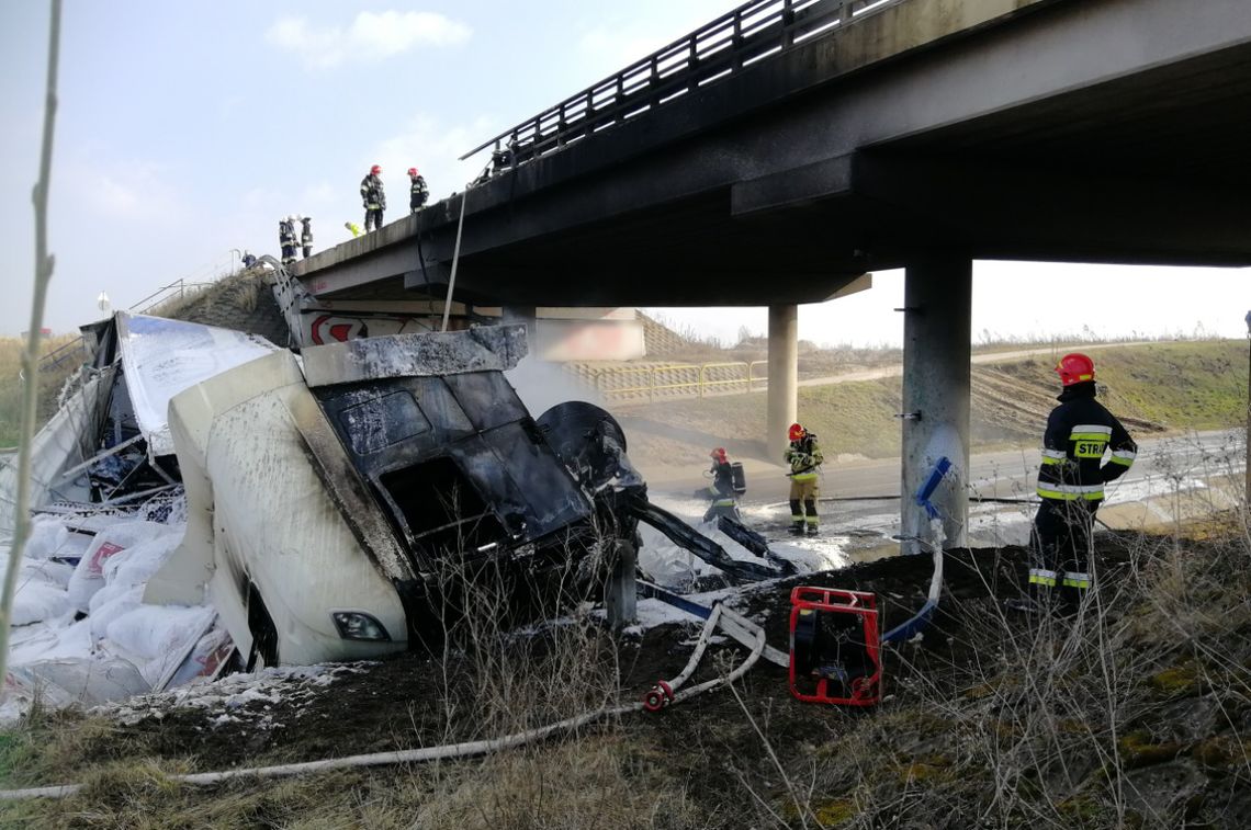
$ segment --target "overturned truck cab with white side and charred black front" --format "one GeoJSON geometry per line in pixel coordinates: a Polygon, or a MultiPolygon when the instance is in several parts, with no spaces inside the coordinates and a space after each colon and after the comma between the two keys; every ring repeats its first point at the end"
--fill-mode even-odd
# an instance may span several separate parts
{"type": "Polygon", "coordinates": [[[523,326],[370,338],[174,396],[186,536],[144,600],[206,591],[255,668],[437,641],[487,572],[523,601],[594,591],[634,520],[530,418],[503,374],[524,354],[523,326]]]}

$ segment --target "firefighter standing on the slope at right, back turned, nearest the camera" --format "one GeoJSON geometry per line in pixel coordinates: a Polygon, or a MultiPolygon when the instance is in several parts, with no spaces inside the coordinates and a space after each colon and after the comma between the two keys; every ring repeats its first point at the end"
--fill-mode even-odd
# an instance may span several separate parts
{"type": "Polygon", "coordinates": [[[1036,602],[1047,604],[1058,589],[1062,606],[1072,610],[1091,586],[1087,556],[1103,485],[1130,469],[1138,448],[1121,421],[1095,400],[1095,362],[1090,358],[1065,355],[1056,372],[1063,390],[1042,439],[1042,505],[1033,520],[1030,594],[1036,602]]]}

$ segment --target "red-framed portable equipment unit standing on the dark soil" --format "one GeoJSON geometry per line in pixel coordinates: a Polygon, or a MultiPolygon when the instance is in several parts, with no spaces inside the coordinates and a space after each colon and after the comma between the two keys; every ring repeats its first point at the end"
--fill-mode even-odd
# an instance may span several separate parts
{"type": "Polygon", "coordinates": [[[806,702],[872,706],[882,699],[877,598],[836,588],[791,592],[791,694],[806,702]]]}

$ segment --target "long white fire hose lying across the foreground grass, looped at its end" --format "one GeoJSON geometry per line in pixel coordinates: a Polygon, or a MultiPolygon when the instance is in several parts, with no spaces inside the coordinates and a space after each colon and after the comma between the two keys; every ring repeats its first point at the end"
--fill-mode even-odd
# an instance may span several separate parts
{"type": "MultiPolygon", "coordinates": [[[[692,672],[694,672],[696,665],[699,662],[699,658],[703,656],[704,649],[708,645],[708,640],[712,636],[714,628],[719,625],[723,631],[729,634],[732,638],[742,642],[744,646],[751,649],[751,654],[743,660],[733,671],[723,678],[714,678],[713,680],[704,681],[691,689],[682,691],[673,696],[674,704],[683,700],[689,700],[696,695],[701,695],[706,691],[711,691],[717,686],[727,682],[733,682],[747,674],[748,669],[756,665],[759,659],[761,652],[764,650],[764,630],[758,626],[752,620],[732,611],[723,605],[717,605],[713,608],[713,616],[709,618],[709,622],[704,625],[703,631],[699,635],[699,642],[696,646],[696,651],[691,655],[691,660],[687,662],[687,668],[682,670],[677,678],[674,678],[673,686],[684,682],[692,672]],[[724,618],[724,619],[722,619],[724,618]],[[726,625],[727,621],[732,621],[733,625],[726,625]],[[751,634],[751,636],[744,636],[744,630],[751,634]]],[[[568,718],[565,720],[558,721],[555,724],[548,724],[547,726],[540,726],[538,729],[525,730],[520,732],[514,732],[512,735],[505,735],[503,738],[492,738],[482,741],[468,741],[464,744],[445,744],[443,746],[428,746],[424,749],[408,749],[408,750],[395,750],[390,752],[373,752],[369,755],[349,755],[347,758],[333,758],[323,759],[320,761],[304,761],[301,764],[280,764],[278,766],[254,766],[244,768],[238,770],[223,770],[219,772],[191,772],[186,775],[170,775],[169,781],[176,781],[180,784],[220,784],[221,781],[229,781],[231,779],[239,778],[284,778],[289,775],[300,775],[304,772],[325,772],[329,770],[342,770],[349,768],[362,768],[362,766],[384,766],[389,764],[415,764],[419,761],[435,761],[452,758],[470,758],[473,755],[485,755],[489,752],[498,752],[499,750],[512,749],[514,746],[520,746],[530,741],[542,740],[553,732],[567,731],[570,729],[577,729],[585,724],[600,720],[603,718],[614,718],[618,715],[626,715],[628,712],[641,711],[643,709],[642,701],[633,704],[623,704],[620,706],[597,709],[594,711],[584,712],[574,718],[568,718]]],[[[35,786],[26,788],[23,790],[0,790],[0,801],[16,801],[21,799],[61,799],[76,794],[83,789],[81,784],[61,784],[58,786],[35,786]]]]}

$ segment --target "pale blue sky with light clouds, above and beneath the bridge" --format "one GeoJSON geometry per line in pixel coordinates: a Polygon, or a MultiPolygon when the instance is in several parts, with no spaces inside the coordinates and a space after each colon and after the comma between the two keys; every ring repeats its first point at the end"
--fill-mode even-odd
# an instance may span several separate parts
{"type": "MultiPolygon", "coordinates": [[[[44,115],[49,2],[0,4],[0,335],[29,325],[30,190],[44,115]]],[[[362,221],[358,185],[383,166],[388,219],[409,166],[432,198],[487,155],[458,156],[733,9],[731,0],[304,0],[184,4],[65,0],[45,325],[96,319],[163,285],[278,252],[276,222],[313,218],[315,248],[362,221]]],[[[973,340],[1246,335],[1251,274],[1232,269],[976,262],[973,340]],[[1075,308],[1073,296],[1096,296],[1075,308]]],[[[799,336],[898,345],[903,279],[803,306],[799,336]]],[[[668,309],[726,341],[763,332],[764,309],[668,309]]]]}

